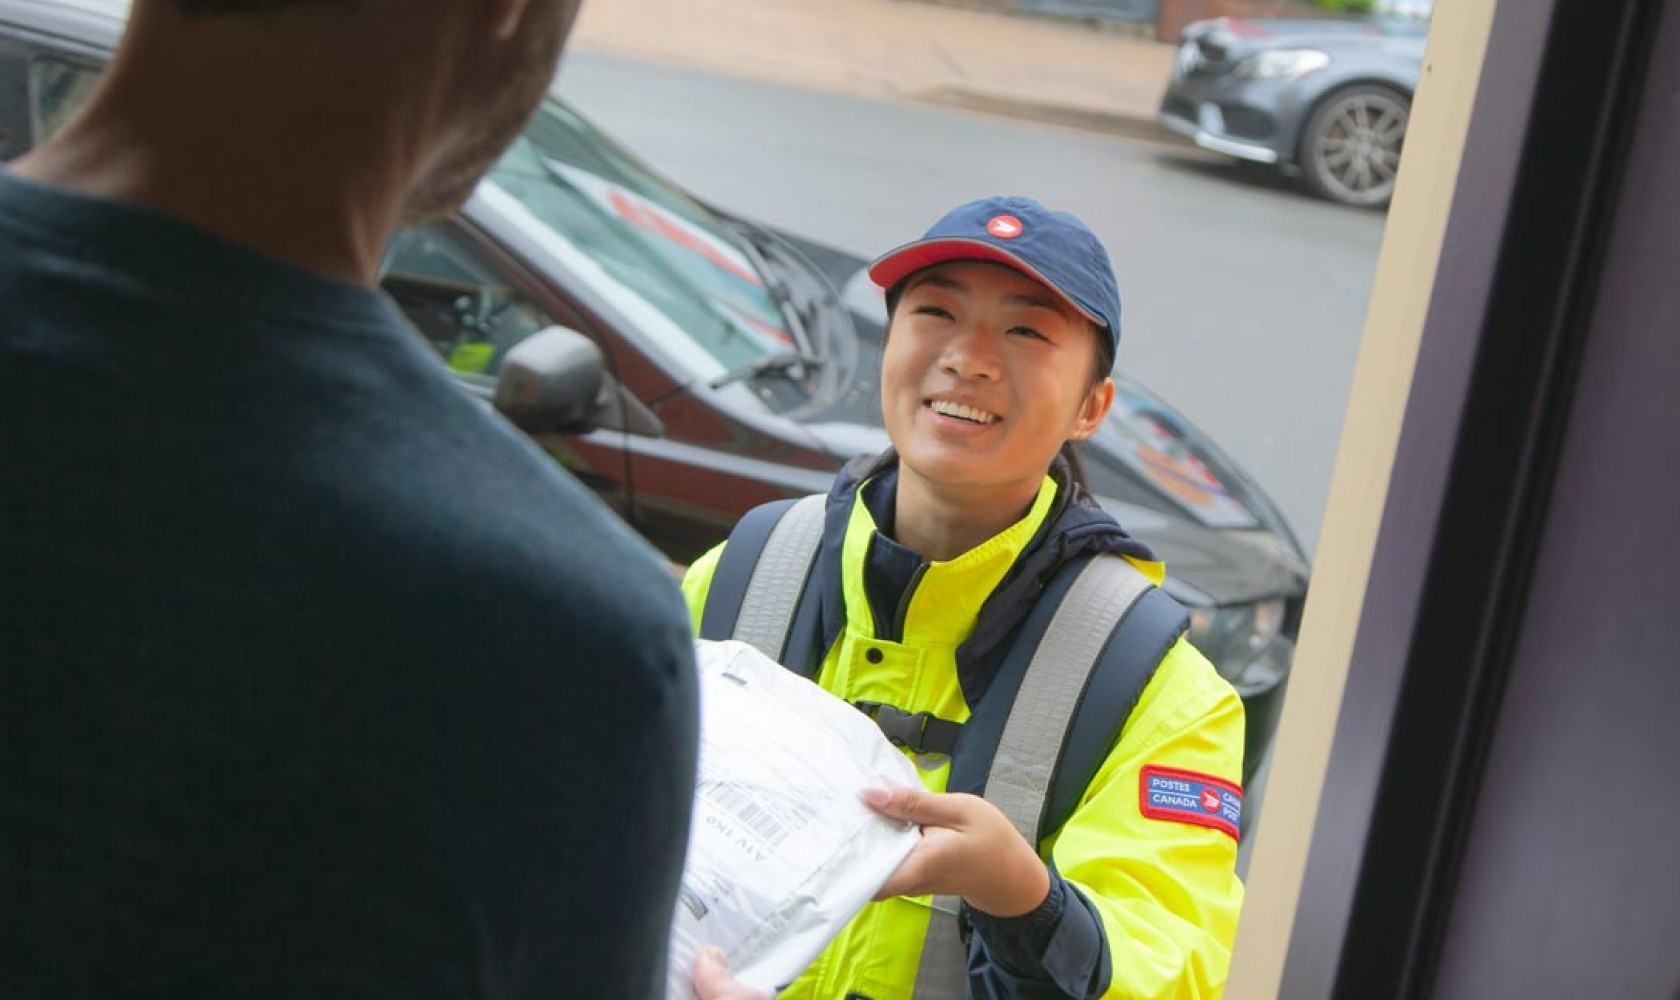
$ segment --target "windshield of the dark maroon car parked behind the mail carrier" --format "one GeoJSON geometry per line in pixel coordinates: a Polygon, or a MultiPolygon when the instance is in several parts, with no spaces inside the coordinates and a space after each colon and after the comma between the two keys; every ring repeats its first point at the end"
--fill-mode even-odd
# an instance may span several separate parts
{"type": "Polygon", "coordinates": [[[652,309],[662,346],[696,375],[795,346],[751,250],[564,104],[544,101],[487,180],[608,301],[633,318],[652,309]]]}

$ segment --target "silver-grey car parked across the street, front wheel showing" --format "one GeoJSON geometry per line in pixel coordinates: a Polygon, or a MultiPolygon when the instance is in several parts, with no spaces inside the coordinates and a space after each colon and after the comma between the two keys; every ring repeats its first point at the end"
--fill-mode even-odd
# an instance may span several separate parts
{"type": "Polygon", "coordinates": [[[1297,171],[1312,192],[1384,207],[1423,66],[1426,7],[1369,18],[1191,24],[1161,99],[1161,124],[1198,146],[1297,171]]]}

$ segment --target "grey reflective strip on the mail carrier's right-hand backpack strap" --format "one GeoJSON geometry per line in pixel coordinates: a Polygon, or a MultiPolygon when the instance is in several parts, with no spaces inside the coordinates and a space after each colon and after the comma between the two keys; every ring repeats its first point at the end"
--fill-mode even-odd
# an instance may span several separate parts
{"type": "Polygon", "coordinates": [[[1109,634],[1152,583],[1122,558],[1095,558],[1062,598],[1026,667],[998,753],[991,758],[986,798],[1028,844],[1038,842],[1038,817],[1050,778],[1090,671],[1109,634]]]}

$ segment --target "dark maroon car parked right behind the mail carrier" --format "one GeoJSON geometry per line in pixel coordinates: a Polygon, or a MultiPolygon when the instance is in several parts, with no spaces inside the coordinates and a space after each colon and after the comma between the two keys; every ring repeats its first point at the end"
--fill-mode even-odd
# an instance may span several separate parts
{"type": "MultiPolygon", "coordinates": [[[[118,0],[0,0],[0,160],[59,128],[114,45],[118,0]]],[[[524,429],[685,563],[749,508],[820,492],[887,442],[885,309],[864,261],[706,207],[549,99],[452,218],[400,232],[381,284],[462,392],[524,429]]],[[[1307,560],[1260,489],[1117,378],[1082,449],[1168,561],[1193,639],[1270,739],[1307,560]]]]}

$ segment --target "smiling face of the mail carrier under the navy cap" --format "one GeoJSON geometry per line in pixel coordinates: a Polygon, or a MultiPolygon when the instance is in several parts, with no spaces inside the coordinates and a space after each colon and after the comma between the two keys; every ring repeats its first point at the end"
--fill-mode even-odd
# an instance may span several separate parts
{"type": "Polygon", "coordinates": [[[1020,516],[1067,440],[1114,400],[1094,378],[1090,321],[1025,274],[954,261],[911,276],[892,314],[880,397],[900,477],[1020,516]]]}

